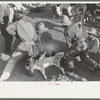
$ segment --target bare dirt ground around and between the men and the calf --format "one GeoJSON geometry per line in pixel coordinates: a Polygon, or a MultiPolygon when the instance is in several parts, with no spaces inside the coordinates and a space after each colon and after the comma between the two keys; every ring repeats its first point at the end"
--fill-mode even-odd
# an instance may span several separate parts
{"type": "MultiPolygon", "coordinates": [[[[57,41],[56,43],[59,43],[59,44],[61,43],[60,48],[64,47],[64,45],[65,45],[65,43],[64,43],[65,40],[64,40],[64,36],[63,36],[64,29],[62,27],[60,27],[58,22],[52,18],[52,14],[50,14],[48,12],[40,12],[40,13],[28,14],[27,16],[28,16],[28,20],[32,23],[33,26],[37,26],[39,22],[44,22],[45,25],[51,30],[53,38],[55,40],[60,40],[60,41],[57,41]]],[[[89,24],[91,24],[91,23],[88,23],[88,25],[89,24]]],[[[94,25],[94,27],[96,27],[99,31],[99,25],[98,26],[96,26],[96,25],[94,25]]],[[[1,46],[0,53],[2,53],[4,51],[4,38],[1,34],[0,34],[0,46],[1,46]]],[[[99,61],[100,54],[96,54],[92,58],[94,60],[96,60],[98,63],[100,63],[100,61],[99,61]]],[[[39,71],[35,71],[34,76],[30,77],[28,71],[24,67],[25,62],[26,62],[26,58],[23,58],[22,60],[20,60],[17,63],[11,77],[7,81],[44,81],[44,79],[39,71]]],[[[2,74],[2,71],[3,71],[6,63],[7,63],[6,61],[2,61],[0,59],[0,69],[1,69],[0,75],[2,74]]],[[[66,73],[65,79],[63,79],[62,76],[59,76],[61,74],[61,72],[55,66],[46,68],[45,71],[46,71],[46,75],[48,77],[48,81],[51,81],[55,77],[62,78],[62,80],[58,79],[60,81],[80,81],[80,78],[86,79],[87,81],[100,81],[100,73],[99,72],[94,72],[94,71],[90,70],[89,67],[87,65],[83,64],[82,62],[76,61],[75,66],[76,67],[75,67],[74,75],[66,73]]]]}

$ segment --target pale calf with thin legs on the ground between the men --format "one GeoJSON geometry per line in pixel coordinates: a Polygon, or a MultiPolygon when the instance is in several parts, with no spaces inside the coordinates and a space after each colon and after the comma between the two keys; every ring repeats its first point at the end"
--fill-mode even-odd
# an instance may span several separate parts
{"type": "Polygon", "coordinates": [[[47,80],[47,76],[45,74],[45,68],[55,65],[56,67],[60,68],[63,75],[65,75],[64,69],[60,67],[60,60],[64,56],[63,52],[57,53],[55,56],[52,57],[45,57],[44,53],[39,60],[35,61],[35,64],[33,61],[33,58],[30,59],[30,65],[31,66],[25,66],[27,70],[29,70],[30,74],[34,74],[34,70],[39,70],[41,74],[43,75],[44,79],[47,80]]]}

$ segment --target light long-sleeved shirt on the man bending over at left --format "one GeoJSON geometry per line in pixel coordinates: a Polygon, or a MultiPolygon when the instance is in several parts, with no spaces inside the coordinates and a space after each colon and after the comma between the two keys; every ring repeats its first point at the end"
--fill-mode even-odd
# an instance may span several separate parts
{"type": "Polygon", "coordinates": [[[25,22],[23,19],[12,23],[6,28],[7,32],[11,35],[17,35],[22,41],[36,41],[37,35],[35,28],[29,23],[25,22]]]}

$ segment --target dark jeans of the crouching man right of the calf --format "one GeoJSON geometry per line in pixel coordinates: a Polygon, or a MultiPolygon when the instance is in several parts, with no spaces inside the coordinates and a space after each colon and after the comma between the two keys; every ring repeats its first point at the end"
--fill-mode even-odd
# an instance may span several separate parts
{"type": "Polygon", "coordinates": [[[66,52],[67,56],[67,61],[69,64],[69,67],[74,68],[74,64],[73,64],[73,58],[76,56],[80,56],[81,60],[88,65],[91,68],[95,68],[98,64],[91,58],[89,58],[88,56],[88,49],[84,50],[84,51],[77,51],[73,48],[70,49],[69,52],[66,52]]]}

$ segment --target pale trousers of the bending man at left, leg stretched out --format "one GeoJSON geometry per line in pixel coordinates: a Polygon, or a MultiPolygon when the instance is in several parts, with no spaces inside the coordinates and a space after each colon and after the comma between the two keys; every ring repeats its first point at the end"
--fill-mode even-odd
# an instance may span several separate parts
{"type": "Polygon", "coordinates": [[[16,51],[13,52],[11,58],[8,60],[8,63],[6,64],[3,70],[3,73],[1,75],[2,79],[7,80],[10,77],[11,73],[13,72],[16,66],[16,63],[25,55],[30,54],[30,51],[32,51],[32,48],[31,48],[32,46],[33,44],[28,44],[26,42],[22,42],[18,45],[16,51]],[[5,76],[6,73],[8,73],[9,75],[5,76]]]}

